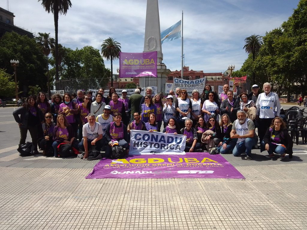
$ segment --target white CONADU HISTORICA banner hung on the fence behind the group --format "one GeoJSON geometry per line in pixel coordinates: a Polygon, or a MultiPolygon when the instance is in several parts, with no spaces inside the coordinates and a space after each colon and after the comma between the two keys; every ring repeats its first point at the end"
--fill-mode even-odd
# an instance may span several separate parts
{"type": "Polygon", "coordinates": [[[192,96],[193,90],[203,92],[206,85],[206,78],[200,78],[195,80],[185,80],[181,78],[174,78],[174,89],[177,87],[187,90],[189,96],[192,96]]]}

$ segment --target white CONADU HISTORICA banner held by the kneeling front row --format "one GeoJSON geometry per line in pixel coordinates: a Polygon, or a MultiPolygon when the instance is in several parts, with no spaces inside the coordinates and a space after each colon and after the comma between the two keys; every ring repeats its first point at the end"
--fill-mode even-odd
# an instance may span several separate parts
{"type": "Polygon", "coordinates": [[[131,130],[129,154],[185,154],[186,136],[131,130]]]}

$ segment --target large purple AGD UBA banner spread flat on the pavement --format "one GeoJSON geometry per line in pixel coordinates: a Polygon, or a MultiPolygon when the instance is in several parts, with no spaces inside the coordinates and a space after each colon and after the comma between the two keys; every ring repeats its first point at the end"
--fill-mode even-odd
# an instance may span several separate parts
{"type": "Polygon", "coordinates": [[[244,176],[220,154],[194,152],[185,155],[129,155],[125,159],[102,159],[86,178],[243,179],[244,176]]]}

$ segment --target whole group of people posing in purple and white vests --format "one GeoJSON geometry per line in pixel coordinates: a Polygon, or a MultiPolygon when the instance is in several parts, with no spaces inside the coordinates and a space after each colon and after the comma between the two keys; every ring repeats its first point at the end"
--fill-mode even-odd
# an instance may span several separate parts
{"type": "Polygon", "coordinates": [[[51,105],[40,92],[13,112],[20,128],[19,145],[25,143],[29,130],[33,154],[38,153],[38,144],[43,154],[58,157],[59,145],[66,143],[84,151],[84,158],[91,147],[105,151],[108,157],[115,143],[128,149],[131,130],[147,130],[185,135],[186,152],[245,154],[247,160],[251,149],[258,148],[259,137],[261,151],[268,152],[266,157],[277,153],[284,158],[288,153],[291,158],[293,141],[279,117],[281,106],[270,83],[264,83],[263,93],[258,85],[252,86],[250,94],[241,93],[237,82],[234,86],[235,93],[226,84],[218,95],[207,84],[201,94],[193,90],[191,97],[187,90],[176,88],[165,102],[162,93],[152,96],[151,87],[146,88],[145,96],[136,88],[129,98],[126,90],[119,97],[114,87],[107,97],[103,88],[95,96],[82,90],[74,98],[68,93],[62,97],[55,94],[51,105]]]}

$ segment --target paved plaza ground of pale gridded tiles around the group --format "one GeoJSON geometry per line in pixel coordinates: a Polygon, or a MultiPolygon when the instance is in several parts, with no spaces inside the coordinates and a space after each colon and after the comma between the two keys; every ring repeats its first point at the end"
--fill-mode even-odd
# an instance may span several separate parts
{"type": "Polygon", "coordinates": [[[307,229],[301,141],[291,160],[223,155],[245,180],[85,179],[97,160],[18,156],[14,109],[0,108],[0,230],[307,229]]]}

